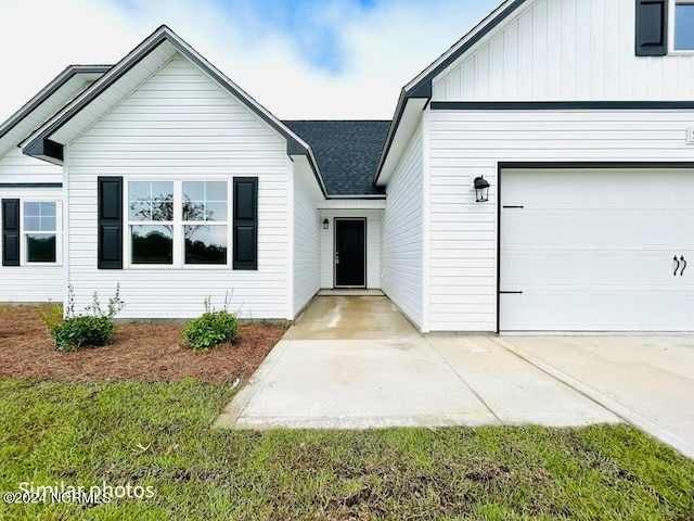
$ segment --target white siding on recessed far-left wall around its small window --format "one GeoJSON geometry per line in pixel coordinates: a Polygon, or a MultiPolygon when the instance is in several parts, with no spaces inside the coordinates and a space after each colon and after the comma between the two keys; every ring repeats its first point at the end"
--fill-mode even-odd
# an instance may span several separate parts
{"type": "MultiPolygon", "coordinates": [[[[63,190],[61,188],[0,188],[0,199],[60,202],[63,199],[63,190]]],[[[0,212],[0,229],[2,229],[2,212],[0,212]]],[[[2,247],[1,242],[0,238],[0,247],[2,247]]],[[[56,244],[60,249],[60,238],[56,244]]],[[[21,247],[24,247],[23,240],[21,247]]],[[[60,252],[57,254],[60,255],[60,252]]],[[[61,265],[0,265],[0,302],[62,302],[65,287],[63,279],[61,265]]]]}

